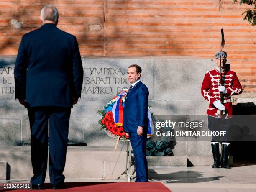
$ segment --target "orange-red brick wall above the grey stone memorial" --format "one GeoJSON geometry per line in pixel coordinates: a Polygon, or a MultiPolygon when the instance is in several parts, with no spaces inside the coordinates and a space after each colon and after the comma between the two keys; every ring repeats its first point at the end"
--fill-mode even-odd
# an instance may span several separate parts
{"type": "Polygon", "coordinates": [[[243,20],[246,6],[233,0],[1,0],[0,55],[17,54],[21,36],[41,26],[48,4],[85,56],[213,58],[223,28],[231,69],[244,92],[256,92],[256,27],[243,20]]]}

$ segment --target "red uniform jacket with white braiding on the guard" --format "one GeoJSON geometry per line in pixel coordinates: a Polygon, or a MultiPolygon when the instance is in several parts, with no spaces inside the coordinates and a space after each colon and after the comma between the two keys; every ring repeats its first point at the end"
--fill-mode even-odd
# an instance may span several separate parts
{"type": "MultiPolygon", "coordinates": [[[[223,93],[224,101],[222,104],[225,106],[225,118],[230,118],[232,116],[232,103],[230,96],[241,94],[243,89],[235,72],[226,70],[222,73],[222,78],[223,83],[225,82],[225,87],[227,90],[226,94],[223,93]]],[[[220,72],[217,71],[217,69],[207,71],[202,82],[201,93],[205,100],[210,103],[206,112],[207,115],[214,117],[220,117],[220,110],[215,108],[213,105],[214,101],[220,101],[220,92],[218,90],[219,85],[220,72]]]]}

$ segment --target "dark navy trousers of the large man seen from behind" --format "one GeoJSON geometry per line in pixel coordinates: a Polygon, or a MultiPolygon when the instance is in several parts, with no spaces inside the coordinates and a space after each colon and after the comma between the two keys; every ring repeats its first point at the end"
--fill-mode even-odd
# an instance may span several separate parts
{"type": "Polygon", "coordinates": [[[49,144],[49,175],[51,184],[64,182],[62,174],[66,162],[67,138],[71,108],[30,107],[28,117],[31,129],[31,184],[44,184],[49,144]],[[48,136],[49,121],[49,136],[48,136]]]}

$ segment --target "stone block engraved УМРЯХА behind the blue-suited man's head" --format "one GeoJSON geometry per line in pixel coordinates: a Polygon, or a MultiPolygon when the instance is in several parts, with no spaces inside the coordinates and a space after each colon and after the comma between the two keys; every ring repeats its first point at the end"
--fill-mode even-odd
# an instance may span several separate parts
{"type": "Polygon", "coordinates": [[[153,59],[145,58],[95,58],[84,57],[84,85],[81,99],[111,100],[123,87],[130,87],[127,68],[131,64],[141,66],[141,81],[149,90],[149,100],[153,100],[153,59]]]}

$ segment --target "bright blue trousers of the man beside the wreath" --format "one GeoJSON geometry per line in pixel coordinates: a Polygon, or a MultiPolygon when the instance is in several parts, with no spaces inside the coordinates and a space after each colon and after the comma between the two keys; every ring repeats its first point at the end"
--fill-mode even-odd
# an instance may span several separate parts
{"type": "Polygon", "coordinates": [[[139,136],[138,133],[129,133],[129,136],[135,158],[135,182],[148,182],[148,164],[146,159],[147,135],[139,136]]]}

